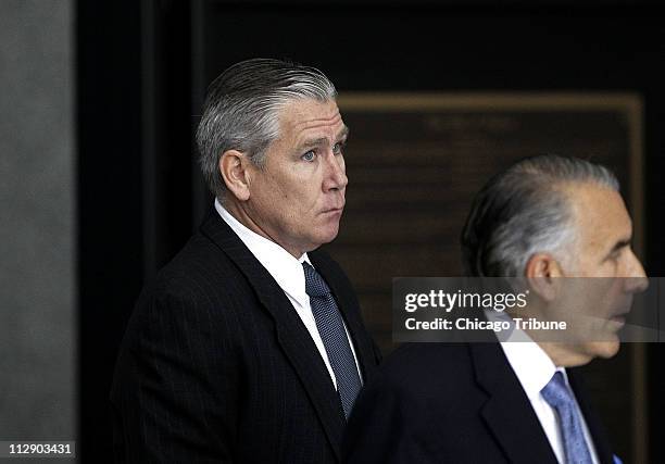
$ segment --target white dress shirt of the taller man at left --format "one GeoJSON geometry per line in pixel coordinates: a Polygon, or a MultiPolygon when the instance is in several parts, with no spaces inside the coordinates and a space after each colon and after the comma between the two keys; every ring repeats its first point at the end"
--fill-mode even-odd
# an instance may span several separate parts
{"type": "MultiPolygon", "coordinates": [[[[312,314],[312,308],[310,306],[310,297],[305,292],[305,280],[302,263],[308,262],[312,264],[308,253],[304,253],[299,260],[297,260],[293,258],[293,255],[274,241],[260,236],[242,225],[238,220],[231,216],[231,214],[226,211],[226,209],[224,209],[224,206],[217,200],[215,200],[215,210],[217,210],[217,213],[219,213],[219,216],[222,216],[224,222],[228,224],[228,226],[236,233],[236,235],[240,238],[240,240],[242,240],[246,247],[249,248],[256,260],[259,260],[263,267],[265,267],[265,269],[273,276],[275,281],[277,281],[277,285],[279,285],[281,290],[284,290],[289,301],[293,305],[296,313],[298,313],[298,316],[300,316],[300,319],[310,333],[312,340],[314,340],[314,344],[316,344],[318,353],[328,368],[328,374],[330,375],[332,385],[335,386],[335,389],[337,389],[337,379],[335,378],[332,366],[328,360],[326,347],[324,346],[321,335],[318,334],[318,329],[316,328],[314,314],[312,314]]],[[[314,265],[312,264],[312,266],[314,265]]],[[[344,330],[347,331],[347,338],[349,339],[349,344],[351,346],[351,351],[353,352],[357,375],[362,383],[363,377],[357,364],[357,355],[355,354],[355,348],[353,347],[353,342],[349,336],[349,329],[347,329],[346,323],[344,330]]]]}

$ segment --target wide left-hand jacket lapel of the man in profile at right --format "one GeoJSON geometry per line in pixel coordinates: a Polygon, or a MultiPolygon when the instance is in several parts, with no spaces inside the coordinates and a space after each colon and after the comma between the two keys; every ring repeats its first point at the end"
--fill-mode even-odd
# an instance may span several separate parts
{"type": "Polygon", "coordinates": [[[481,415],[509,461],[557,464],[531,403],[499,343],[469,343],[476,381],[487,392],[481,415]]]}

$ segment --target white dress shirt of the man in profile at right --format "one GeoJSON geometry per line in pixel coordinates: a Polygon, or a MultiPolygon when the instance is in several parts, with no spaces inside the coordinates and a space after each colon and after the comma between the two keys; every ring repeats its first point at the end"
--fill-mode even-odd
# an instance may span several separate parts
{"type": "MultiPolygon", "coordinates": [[[[497,313],[495,311],[489,311],[487,313],[490,321],[510,319],[510,316],[504,313],[497,313]]],[[[512,323],[512,319],[510,321],[512,323]]],[[[548,385],[552,376],[554,376],[554,373],[557,371],[563,374],[566,385],[570,387],[568,385],[566,369],[555,366],[548,353],[545,353],[542,348],[538,346],[538,343],[532,341],[524,330],[516,328],[514,324],[512,328],[513,331],[506,341],[501,342],[501,348],[503,349],[505,358],[507,358],[511,367],[515,372],[519,384],[522,384],[522,388],[531,402],[531,407],[534,407],[534,412],[536,412],[538,421],[548,436],[548,440],[550,441],[552,450],[554,450],[556,460],[561,464],[566,464],[566,453],[563,447],[563,437],[561,434],[559,417],[555,410],[550,406],[544,398],[542,398],[542,394],[540,394],[540,391],[545,385],[548,385]]],[[[573,390],[570,391],[573,392],[573,390]]],[[[573,397],[575,397],[574,392],[573,397]]],[[[598,455],[595,453],[593,440],[591,439],[591,434],[587,427],[585,416],[579,410],[577,401],[575,404],[582,425],[585,440],[587,441],[587,447],[589,448],[589,453],[591,454],[591,460],[593,461],[593,464],[598,464],[598,455]]]]}

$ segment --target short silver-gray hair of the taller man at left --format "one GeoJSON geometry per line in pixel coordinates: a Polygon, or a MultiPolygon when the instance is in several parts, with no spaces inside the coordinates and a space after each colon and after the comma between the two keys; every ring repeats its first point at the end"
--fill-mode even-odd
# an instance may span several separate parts
{"type": "Polygon", "coordinates": [[[234,64],[208,88],[197,130],[201,171],[211,191],[223,200],[226,185],[219,156],[246,153],[259,167],[279,137],[279,111],[290,101],[335,100],[332,83],[318,70],[280,60],[253,59],[234,64]]]}

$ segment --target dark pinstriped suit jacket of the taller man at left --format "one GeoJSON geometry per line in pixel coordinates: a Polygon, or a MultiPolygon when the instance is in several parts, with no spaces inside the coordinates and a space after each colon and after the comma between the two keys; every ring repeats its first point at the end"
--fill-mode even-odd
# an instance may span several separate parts
{"type": "MultiPolygon", "coordinates": [[[[378,351],[339,266],[328,283],[368,380],[378,351]]],[[[111,391],[114,453],[133,463],[335,463],[346,421],[289,299],[213,211],[141,293],[111,391]]]]}

